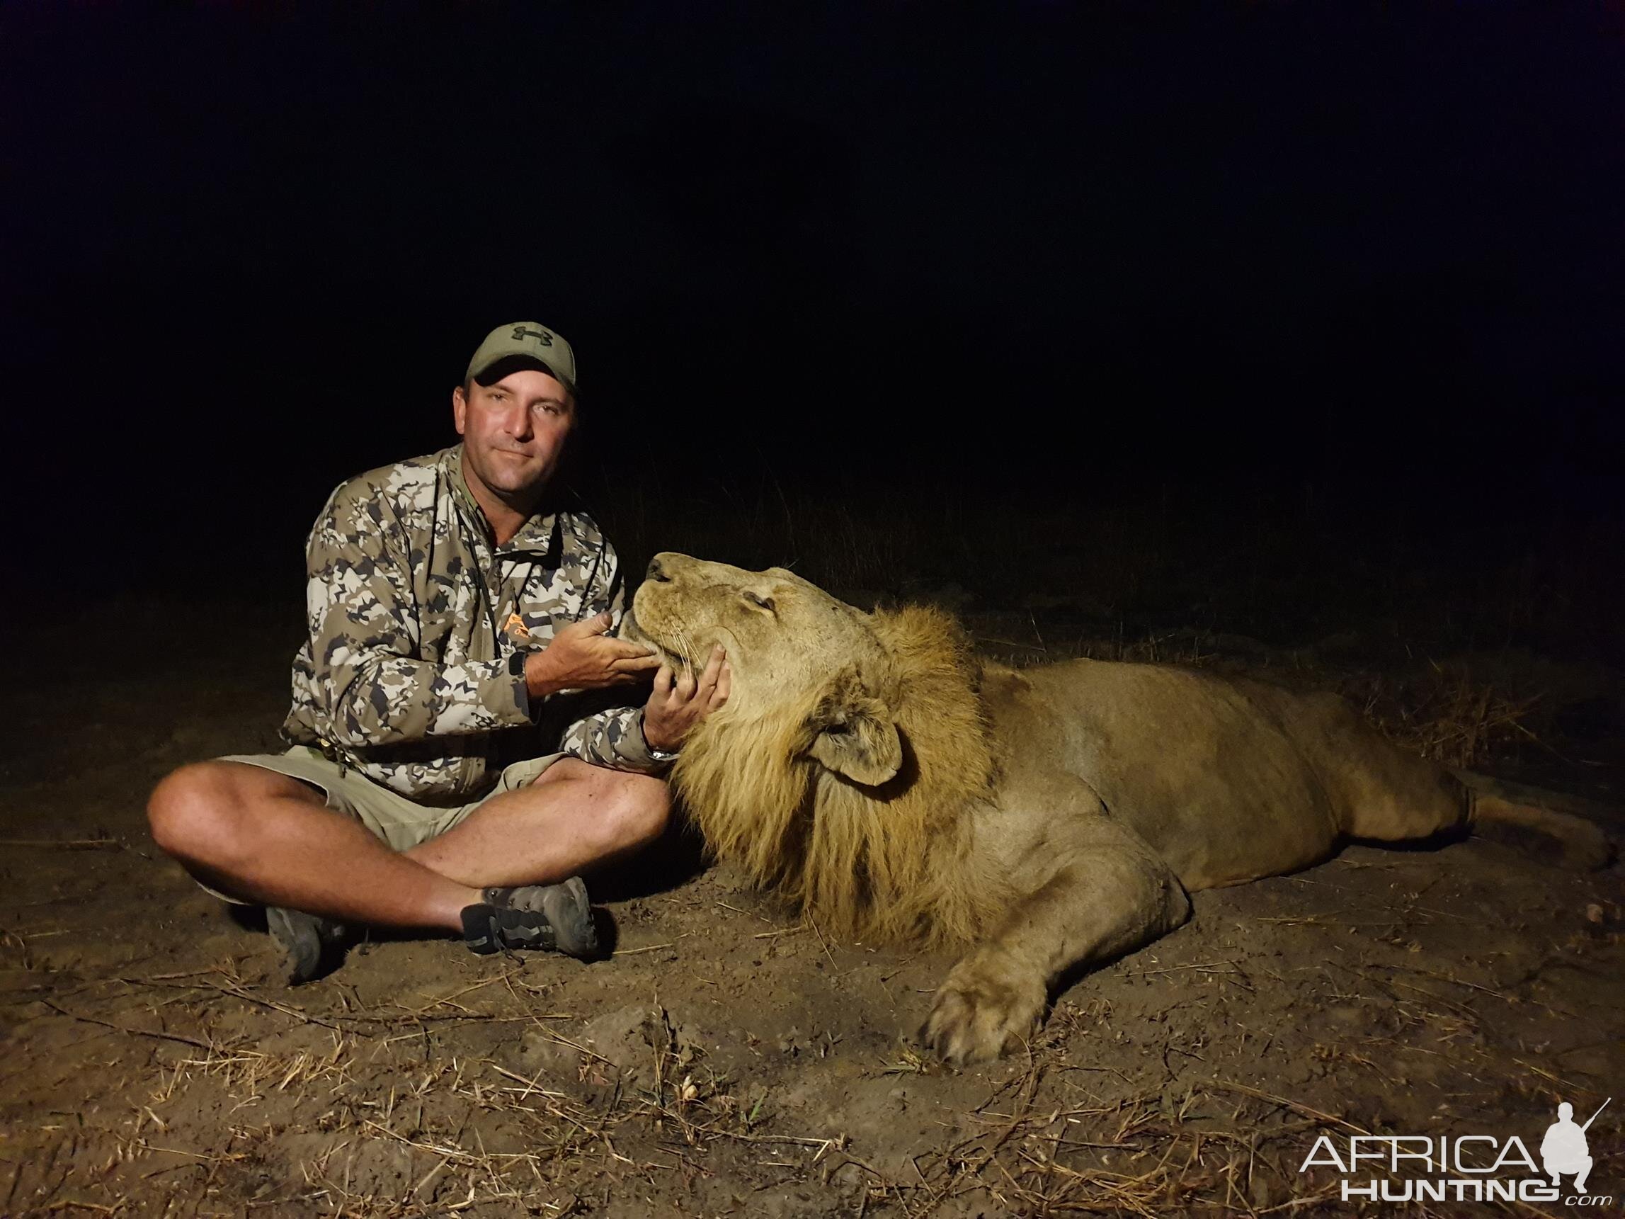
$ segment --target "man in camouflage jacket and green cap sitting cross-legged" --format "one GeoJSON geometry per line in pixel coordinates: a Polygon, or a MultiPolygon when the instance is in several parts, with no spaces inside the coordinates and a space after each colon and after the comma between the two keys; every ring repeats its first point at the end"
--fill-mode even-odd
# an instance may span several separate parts
{"type": "Polygon", "coordinates": [[[184,766],[148,803],[159,847],[266,905],[294,982],[340,923],[593,956],[578,873],[661,834],[658,775],[728,697],[720,652],[674,676],[613,637],[616,553],[549,499],[577,419],[570,346],[499,327],[452,413],[462,444],[349,479],[310,531],[288,753],[184,766]],[[650,675],[644,707],[574,692],[650,675]]]}

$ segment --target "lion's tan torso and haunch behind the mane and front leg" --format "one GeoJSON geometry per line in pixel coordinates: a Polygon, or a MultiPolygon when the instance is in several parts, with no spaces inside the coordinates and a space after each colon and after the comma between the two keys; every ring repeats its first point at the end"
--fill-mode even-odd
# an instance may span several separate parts
{"type": "MultiPolygon", "coordinates": [[[[1422,839],[1467,821],[1454,779],[1332,696],[1098,660],[990,668],[983,696],[1020,772],[1087,782],[1191,892],[1306,868],[1346,835],[1422,839]]],[[[1017,774],[1012,806],[1025,803],[1017,774]]]]}

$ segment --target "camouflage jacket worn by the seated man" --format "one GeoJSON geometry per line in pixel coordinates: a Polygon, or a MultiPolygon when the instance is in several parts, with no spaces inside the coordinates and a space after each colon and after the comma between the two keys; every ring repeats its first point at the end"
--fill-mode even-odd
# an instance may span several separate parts
{"type": "Polygon", "coordinates": [[[310,637],[294,657],[283,736],[405,796],[476,800],[502,766],[564,749],[655,770],[624,691],[531,701],[522,657],[609,610],[614,549],[583,512],[544,512],[494,543],[462,445],[341,484],[306,546],[310,637]],[[562,741],[562,744],[561,744],[562,741]]]}

